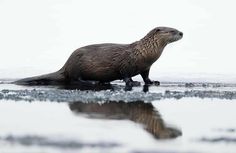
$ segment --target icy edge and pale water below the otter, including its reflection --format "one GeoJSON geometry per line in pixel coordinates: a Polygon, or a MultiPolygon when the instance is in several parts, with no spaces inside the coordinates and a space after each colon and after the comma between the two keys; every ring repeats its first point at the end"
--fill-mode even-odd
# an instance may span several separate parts
{"type": "Polygon", "coordinates": [[[236,150],[236,86],[0,84],[0,152],[236,150]],[[145,91],[145,92],[144,92],[145,91]]]}

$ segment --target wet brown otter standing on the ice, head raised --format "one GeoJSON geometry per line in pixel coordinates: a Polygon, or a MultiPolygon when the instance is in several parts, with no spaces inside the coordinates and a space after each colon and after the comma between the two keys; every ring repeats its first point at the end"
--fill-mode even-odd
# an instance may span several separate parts
{"type": "Polygon", "coordinates": [[[141,74],[145,84],[159,84],[149,79],[151,65],[164,47],[183,37],[168,27],[157,27],[144,38],[131,44],[95,44],[75,50],[57,72],[16,81],[22,85],[73,84],[79,81],[124,80],[126,85],[139,85],[132,77],[141,74]]]}

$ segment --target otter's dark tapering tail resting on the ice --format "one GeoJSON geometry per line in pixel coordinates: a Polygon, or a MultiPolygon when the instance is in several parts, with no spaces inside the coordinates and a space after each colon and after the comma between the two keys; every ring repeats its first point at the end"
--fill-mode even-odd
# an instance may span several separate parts
{"type": "Polygon", "coordinates": [[[57,71],[50,74],[35,76],[15,81],[18,85],[57,85],[65,82],[63,72],[57,71]]]}

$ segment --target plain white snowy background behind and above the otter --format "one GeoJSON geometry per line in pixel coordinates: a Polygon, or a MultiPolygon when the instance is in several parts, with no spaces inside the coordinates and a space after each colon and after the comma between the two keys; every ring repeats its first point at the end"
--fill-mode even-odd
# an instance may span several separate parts
{"type": "MultiPolygon", "coordinates": [[[[160,81],[236,82],[235,1],[0,0],[0,78],[58,70],[77,48],[183,31],[152,66],[160,81]]],[[[137,79],[140,79],[138,77],[137,79]]]]}

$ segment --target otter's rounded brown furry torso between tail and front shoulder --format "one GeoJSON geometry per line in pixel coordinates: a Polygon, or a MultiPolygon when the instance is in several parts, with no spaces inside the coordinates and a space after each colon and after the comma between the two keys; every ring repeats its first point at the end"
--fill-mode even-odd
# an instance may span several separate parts
{"type": "Polygon", "coordinates": [[[120,67],[130,53],[129,45],[125,44],[85,46],[72,53],[64,69],[74,79],[104,82],[122,79],[120,67]]]}

